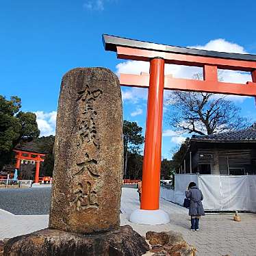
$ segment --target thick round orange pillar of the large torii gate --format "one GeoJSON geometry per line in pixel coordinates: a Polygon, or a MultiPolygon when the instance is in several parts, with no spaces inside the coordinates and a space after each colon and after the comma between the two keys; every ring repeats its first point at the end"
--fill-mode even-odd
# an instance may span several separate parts
{"type": "Polygon", "coordinates": [[[150,62],[140,209],[159,209],[163,99],[164,59],[154,57],[150,62]]]}

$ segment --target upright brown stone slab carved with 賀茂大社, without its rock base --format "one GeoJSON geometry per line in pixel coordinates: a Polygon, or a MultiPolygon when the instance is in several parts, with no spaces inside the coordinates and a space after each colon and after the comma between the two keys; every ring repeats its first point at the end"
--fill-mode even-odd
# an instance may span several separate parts
{"type": "Polygon", "coordinates": [[[123,110],[119,81],[103,68],[62,79],[50,229],[92,233],[120,225],[123,110]]]}

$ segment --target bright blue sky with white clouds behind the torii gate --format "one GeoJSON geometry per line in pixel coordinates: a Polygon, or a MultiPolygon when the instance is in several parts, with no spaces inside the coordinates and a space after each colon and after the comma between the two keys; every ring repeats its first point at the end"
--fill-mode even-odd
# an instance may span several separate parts
{"type": "MultiPolygon", "coordinates": [[[[256,1],[2,0],[0,12],[0,94],[18,95],[24,111],[36,112],[42,135],[54,133],[64,73],[78,66],[104,66],[115,73],[148,72],[146,63],[117,60],[104,51],[101,35],[216,51],[256,53],[256,1]]],[[[195,69],[170,66],[166,73],[191,77],[195,69]]],[[[245,82],[230,73],[225,81],[245,82]]],[[[124,118],[144,129],[146,90],[123,88],[124,118]]],[[[166,92],[165,97],[168,97],[166,92]]],[[[254,99],[231,97],[242,114],[256,120],[254,99]]],[[[172,131],[164,108],[162,156],[185,135],[172,131]]]]}

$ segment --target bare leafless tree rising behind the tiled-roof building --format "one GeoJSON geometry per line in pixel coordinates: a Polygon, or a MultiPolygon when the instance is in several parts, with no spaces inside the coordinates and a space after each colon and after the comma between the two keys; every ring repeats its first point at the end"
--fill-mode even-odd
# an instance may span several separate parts
{"type": "MultiPolygon", "coordinates": [[[[200,79],[201,75],[194,78],[200,79]]],[[[248,127],[240,108],[225,95],[174,91],[166,103],[170,105],[168,121],[177,131],[209,135],[248,127]]]]}

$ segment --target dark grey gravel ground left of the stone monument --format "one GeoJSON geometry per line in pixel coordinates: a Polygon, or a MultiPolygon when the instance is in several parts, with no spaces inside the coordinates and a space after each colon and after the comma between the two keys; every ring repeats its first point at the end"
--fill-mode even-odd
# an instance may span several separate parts
{"type": "Polygon", "coordinates": [[[0,209],[16,215],[49,214],[51,188],[0,189],[0,209]]]}

